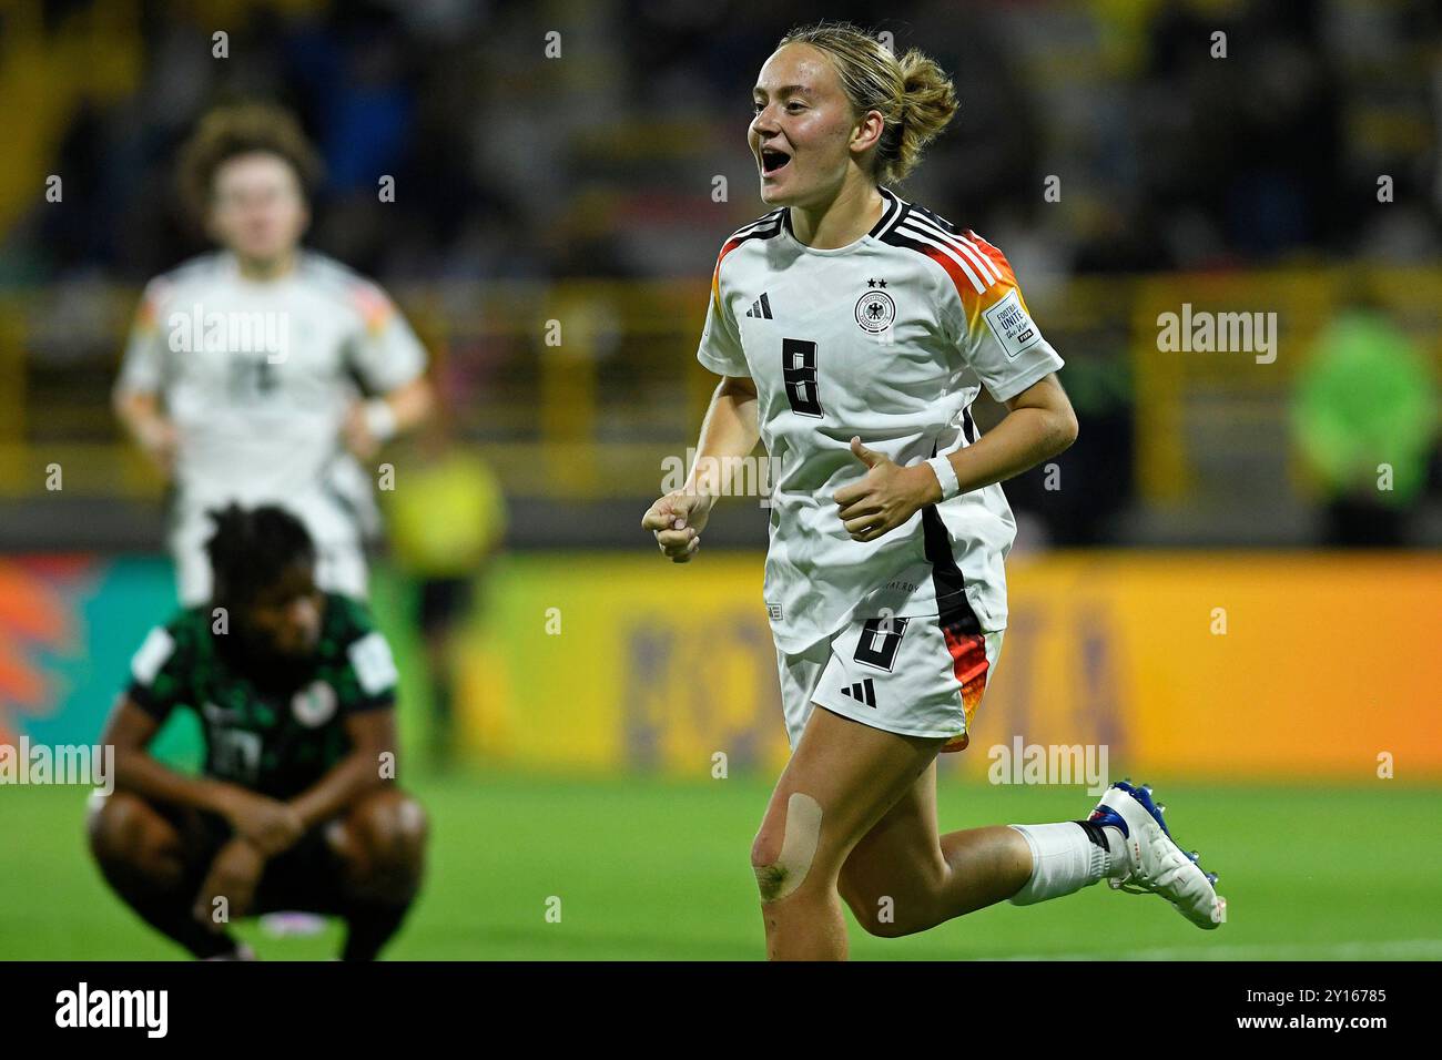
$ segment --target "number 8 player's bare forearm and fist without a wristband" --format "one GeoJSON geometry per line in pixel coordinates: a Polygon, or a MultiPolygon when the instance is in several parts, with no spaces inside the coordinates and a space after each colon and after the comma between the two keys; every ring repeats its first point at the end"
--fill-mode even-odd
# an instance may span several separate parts
{"type": "Polygon", "coordinates": [[[750,456],[761,433],[756,420],[756,384],[746,376],[722,376],[711,395],[711,407],[701,423],[696,463],[686,485],[672,490],[650,506],[640,525],[656,535],[662,555],[672,562],[689,562],[701,548],[701,531],[711,516],[711,505],[724,493],[731,461],[750,456]]]}

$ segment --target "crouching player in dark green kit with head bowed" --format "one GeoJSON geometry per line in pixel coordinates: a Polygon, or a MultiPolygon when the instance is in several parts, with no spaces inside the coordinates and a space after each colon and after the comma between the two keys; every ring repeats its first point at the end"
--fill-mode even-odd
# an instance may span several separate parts
{"type": "Polygon", "coordinates": [[[115,792],[97,796],[91,849],[198,958],[254,956],[228,922],[278,910],[342,916],[343,956],[375,958],[420,888],[427,831],[394,783],[391,649],[365,604],[316,586],[286,511],[232,505],[206,549],[212,600],[150,632],[107,724],[115,792]],[[147,751],[182,707],[203,731],[199,777],[147,751]]]}

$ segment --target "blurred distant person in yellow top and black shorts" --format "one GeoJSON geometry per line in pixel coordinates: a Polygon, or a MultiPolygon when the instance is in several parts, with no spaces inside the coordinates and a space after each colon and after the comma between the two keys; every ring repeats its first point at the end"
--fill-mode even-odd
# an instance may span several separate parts
{"type": "Polygon", "coordinates": [[[490,561],[506,534],[506,499],[486,461],[457,443],[444,401],[411,437],[402,463],[404,482],[381,498],[391,554],[410,581],[425,640],[431,760],[448,766],[456,753],[456,635],[485,610],[490,561]]]}

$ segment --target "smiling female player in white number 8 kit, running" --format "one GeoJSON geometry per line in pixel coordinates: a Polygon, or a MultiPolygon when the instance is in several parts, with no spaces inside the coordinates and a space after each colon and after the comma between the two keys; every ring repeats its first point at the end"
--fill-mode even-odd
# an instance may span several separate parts
{"type": "Polygon", "coordinates": [[[766,606],[793,751],[751,848],[771,958],[845,958],[842,898],[884,936],[1100,878],[1223,919],[1145,787],[937,835],[936,756],[966,746],[1007,626],[998,483],[1077,436],[1002,252],[888,189],[955,110],[916,50],[838,23],[782,39],[748,133],[776,209],[721,247],[698,358],[722,381],[686,486],[642,521],[686,562],[728,485],[708,472],[758,437],[779,463],[766,606]],[[982,385],[1008,408],[985,437],[982,385]]]}

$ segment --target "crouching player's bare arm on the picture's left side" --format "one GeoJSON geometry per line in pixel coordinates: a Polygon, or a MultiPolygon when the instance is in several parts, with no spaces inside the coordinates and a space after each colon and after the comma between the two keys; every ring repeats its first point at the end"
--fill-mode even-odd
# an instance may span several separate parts
{"type": "Polygon", "coordinates": [[[284,802],[224,780],[186,776],[154,759],[149,746],[159,728],[160,723],[128,699],[111,714],[101,741],[115,748],[115,790],[219,813],[265,855],[280,854],[300,838],[301,819],[284,802]]]}

